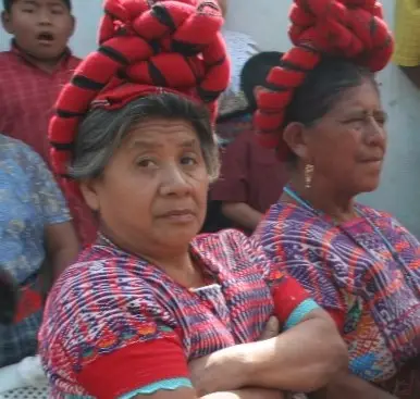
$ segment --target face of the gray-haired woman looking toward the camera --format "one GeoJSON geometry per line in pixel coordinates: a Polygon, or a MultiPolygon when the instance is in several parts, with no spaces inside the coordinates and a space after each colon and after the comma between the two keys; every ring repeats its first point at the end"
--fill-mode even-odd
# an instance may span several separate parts
{"type": "Polygon", "coordinates": [[[189,245],[205,220],[208,186],[193,126],[153,119],[134,127],[103,175],[82,189],[103,232],[146,255],[189,245]]]}

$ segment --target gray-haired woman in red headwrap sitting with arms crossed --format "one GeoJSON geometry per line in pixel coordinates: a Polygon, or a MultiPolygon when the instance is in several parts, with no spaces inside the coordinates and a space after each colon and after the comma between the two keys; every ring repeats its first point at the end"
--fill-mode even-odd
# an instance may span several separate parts
{"type": "Polygon", "coordinates": [[[279,398],[346,366],[334,323],[248,238],[194,238],[218,171],[221,25],[214,1],[109,0],[98,52],[60,96],[53,163],[101,227],[48,299],[53,398],[279,398]],[[271,314],[287,331],[254,342],[271,314]],[[188,362],[206,356],[197,394],[188,362]]]}

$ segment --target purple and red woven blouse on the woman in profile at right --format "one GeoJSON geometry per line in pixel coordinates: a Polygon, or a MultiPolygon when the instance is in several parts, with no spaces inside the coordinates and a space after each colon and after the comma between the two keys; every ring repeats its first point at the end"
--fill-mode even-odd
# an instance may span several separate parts
{"type": "Polygon", "coordinates": [[[420,244],[392,216],[358,207],[405,265],[365,217],[338,227],[292,203],[273,205],[256,237],[336,320],[351,371],[381,383],[420,357],[420,244]]]}

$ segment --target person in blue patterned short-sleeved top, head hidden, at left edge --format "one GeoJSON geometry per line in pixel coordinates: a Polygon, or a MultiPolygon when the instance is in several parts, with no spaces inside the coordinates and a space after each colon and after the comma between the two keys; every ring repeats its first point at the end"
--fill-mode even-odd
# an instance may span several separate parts
{"type": "Polygon", "coordinates": [[[23,142],[0,135],[0,367],[36,352],[46,277],[55,278],[77,251],[46,164],[23,142]]]}

